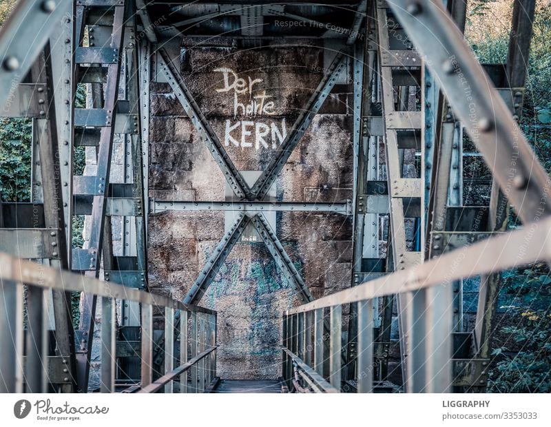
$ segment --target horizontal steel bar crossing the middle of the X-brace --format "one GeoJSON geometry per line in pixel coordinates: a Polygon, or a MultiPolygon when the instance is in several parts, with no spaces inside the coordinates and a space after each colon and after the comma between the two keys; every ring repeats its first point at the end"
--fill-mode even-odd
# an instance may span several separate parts
{"type": "Polygon", "coordinates": [[[323,203],[323,202],[178,202],[173,200],[154,200],[149,213],[163,211],[240,211],[240,212],[313,212],[313,213],[340,213],[351,215],[351,202],[323,203]]]}

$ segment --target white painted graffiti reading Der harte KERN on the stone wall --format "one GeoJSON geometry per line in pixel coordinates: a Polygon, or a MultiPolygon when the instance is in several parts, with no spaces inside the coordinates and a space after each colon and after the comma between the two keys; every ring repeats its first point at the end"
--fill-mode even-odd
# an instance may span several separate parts
{"type": "Polygon", "coordinates": [[[267,95],[266,90],[255,88],[262,79],[253,79],[247,76],[244,79],[231,68],[216,68],[215,72],[222,73],[223,87],[216,90],[218,93],[233,94],[233,120],[226,120],[224,145],[241,148],[275,149],[281,145],[287,136],[285,119],[280,123],[274,120],[262,121],[259,116],[275,116],[275,101],[273,96],[267,95]],[[246,120],[238,120],[245,116],[246,120]]]}

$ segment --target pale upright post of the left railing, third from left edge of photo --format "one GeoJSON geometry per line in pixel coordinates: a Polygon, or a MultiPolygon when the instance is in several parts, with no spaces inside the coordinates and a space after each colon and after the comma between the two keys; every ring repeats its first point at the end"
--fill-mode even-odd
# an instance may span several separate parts
{"type": "Polygon", "coordinates": [[[101,298],[101,393],[115,391],[115,300],[101,298]]]}

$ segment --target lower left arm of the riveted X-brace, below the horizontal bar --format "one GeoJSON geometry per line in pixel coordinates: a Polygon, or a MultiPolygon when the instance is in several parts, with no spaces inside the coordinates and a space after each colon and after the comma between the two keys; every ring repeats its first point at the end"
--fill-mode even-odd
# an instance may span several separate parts
{"type": "Polygon", "coordinates": [[[209,285],[214,280],[218,270],[222,267],[222,264],[224,264],[227,256],[231,252],[231,249],[239,241],[248,223],[249,217],[243,213],[240,213],[236,222],[226,233],[224,238],[222,238],[216,249],[214,249],[209,260],[207,260],[205,267],[201,270],[199,277],[191,289],[189,289],[189,292],[184,299],[184,304],[197,304],[202,298],[202,295],[205,295],[209,285]]]}

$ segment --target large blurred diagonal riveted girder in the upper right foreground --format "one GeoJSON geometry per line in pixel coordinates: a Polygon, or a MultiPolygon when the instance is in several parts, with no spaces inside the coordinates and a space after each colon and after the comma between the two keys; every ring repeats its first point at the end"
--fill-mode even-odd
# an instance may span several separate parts
{"type": "Polygon", "coordinates": [[[388,4],[426,56],[441,90],[521,220],[529,223],[548,216],[549,177],[444,6],[429,0],[388,4]]]}

